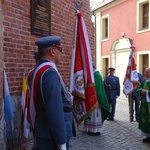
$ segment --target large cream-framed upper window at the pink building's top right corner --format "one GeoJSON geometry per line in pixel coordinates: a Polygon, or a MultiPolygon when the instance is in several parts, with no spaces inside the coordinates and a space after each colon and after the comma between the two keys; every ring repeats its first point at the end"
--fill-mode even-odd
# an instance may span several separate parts
{"type": "Polygon", "coordinates": [[[149,29],[149,0],[140,0],[137,3],[137,32],[149,29]]]}

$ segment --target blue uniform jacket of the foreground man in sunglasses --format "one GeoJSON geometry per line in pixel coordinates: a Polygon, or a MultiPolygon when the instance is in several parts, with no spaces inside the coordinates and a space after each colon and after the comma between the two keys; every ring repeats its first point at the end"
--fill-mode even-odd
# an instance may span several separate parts
{"type": "MultiPolygon", "coordinates": [[[[37,67],[44,62],[48,61],[41,60],[37,67]]],[[[49,138],[57,145],[66,143],[72,137],[72,112],[64,112],[64,107],[70,108],[71,104],[63,93],[60,77],[55,69],[50,68],[42,74],[36,94],[38,111],[35,136],[49,138]]]]}

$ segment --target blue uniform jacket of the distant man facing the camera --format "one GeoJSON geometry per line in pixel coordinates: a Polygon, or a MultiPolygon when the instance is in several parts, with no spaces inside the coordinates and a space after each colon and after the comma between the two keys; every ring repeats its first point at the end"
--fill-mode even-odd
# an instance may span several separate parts
{"type": "Polygon", "coordinates": [[[108,99],[116,99],[117,96],[120,96],[120,83],[117,76],[106,76],[104,85],[108,99]]]}

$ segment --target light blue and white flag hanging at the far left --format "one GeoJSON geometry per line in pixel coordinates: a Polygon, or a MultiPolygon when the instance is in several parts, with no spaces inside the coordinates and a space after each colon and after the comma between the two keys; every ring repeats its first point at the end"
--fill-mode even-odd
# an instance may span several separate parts
{"type": "Polygon", "coordinates": [[[11,96],[8,88],[6,73],[4,70],[4,117],[6,121],[6,136],[7,139],[12,139],[13,118],[14,112],[12,107],[11,96]]]}

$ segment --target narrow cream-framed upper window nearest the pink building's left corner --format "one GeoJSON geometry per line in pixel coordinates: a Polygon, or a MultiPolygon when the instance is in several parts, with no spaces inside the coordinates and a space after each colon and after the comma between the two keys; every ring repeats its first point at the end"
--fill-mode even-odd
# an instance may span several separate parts
{"type": "Polygon", "coordinates": [[[107,16],[102,17],[102,40],[106,40],[109,37],[109,18],[107,16]]]}

